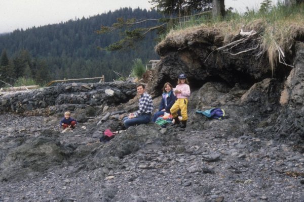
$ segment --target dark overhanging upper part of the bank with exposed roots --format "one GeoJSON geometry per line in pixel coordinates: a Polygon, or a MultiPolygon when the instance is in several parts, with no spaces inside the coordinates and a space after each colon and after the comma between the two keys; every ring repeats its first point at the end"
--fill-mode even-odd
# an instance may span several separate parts
{"type": "MultiPolygon", "coordinates": [[[[249,37],[236,35],[229,41],[235,43],[226,46],[228,42],[218,31],[201,28],[193,32],[196,34],[188,34],[178,42],[167,37],[157,46],[162,60],[155,70],[155,90],[167,81],[176,82],[180,73],[188,76],[193,87],[201,87],[208,81],[224,81],[231,86],[235,83],[252,85],[272,77],[268,57],[263,52],[259,53],[258,34],[249,37]],[[244,41],[237,42],[242,39],[244,41]]],[[[275,77],[282,77],[281,68],[277,68],[275,77]]]]}

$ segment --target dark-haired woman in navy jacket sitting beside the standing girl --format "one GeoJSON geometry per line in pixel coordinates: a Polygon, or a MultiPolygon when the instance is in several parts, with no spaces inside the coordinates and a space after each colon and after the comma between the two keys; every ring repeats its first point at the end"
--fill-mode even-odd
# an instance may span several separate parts
{"type": "Polygon", "coordinates": [[[173,94],[172,88],[173,87],[172,87],[171,83],[169,83],[169,82],[165,83],[165,85],[162,89],[163,90],[162,102],[160,104],[159,111],[154,114],[152,122],[156,122],[157,118],[159,116],[164,115],[165,112],[170,114],[170,109],[176,100],[176,96],[173,94]]]}

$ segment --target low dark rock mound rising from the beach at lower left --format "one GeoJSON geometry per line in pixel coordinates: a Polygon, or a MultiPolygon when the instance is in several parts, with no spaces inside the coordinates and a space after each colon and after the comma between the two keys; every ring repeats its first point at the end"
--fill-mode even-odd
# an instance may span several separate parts
{"type": "Polygon", "coordinates": [[[1,180],[19,181],[36,176],[69,158],[73,148],[63,146],[56,134],[51,133],[51,130],[44,131],[41,137],[29,138],[14,148],[0,165],[1,180]]]}

